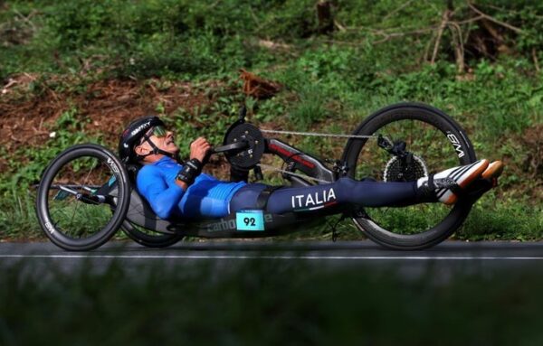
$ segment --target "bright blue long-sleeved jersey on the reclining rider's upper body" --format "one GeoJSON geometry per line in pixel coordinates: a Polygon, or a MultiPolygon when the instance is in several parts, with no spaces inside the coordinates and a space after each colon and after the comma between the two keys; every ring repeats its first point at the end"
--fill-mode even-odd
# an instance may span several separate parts
{"type": "Polygon", "coordinates": [[[202,173],[184,191],[176,184],[176,175],[183,166],[165,156],[138,172],[138,192],[161,219],[220,218],[228,215],[233,194],[245,182],[221,182],[202,173]]]}

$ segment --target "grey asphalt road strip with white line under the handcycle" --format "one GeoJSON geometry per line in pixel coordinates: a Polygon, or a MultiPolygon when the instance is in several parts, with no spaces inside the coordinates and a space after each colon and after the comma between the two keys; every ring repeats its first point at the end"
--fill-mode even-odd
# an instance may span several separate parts
{"type": "Polygon", "coordinates": [[[70,272],[84,265],[100,271],[112,262],[133,270],[157,263],[190,266],[204,261],[222,267],[254,259],[280,264],[303,261],[332,268],[394,268],[409,277],[422,275],[432,267],[444,279],[459,270],[481,275],[519,270],[543,274],[543,242],[445,241],[430,249],[407,252],[388,250],[371,241],[205,241],[181,242],[163,249],[117,241],[89,252],[64,251],[50,242],[0,243],[0,266],[25,261],[34,264],[33,270],[55,267],[70,272]]]}

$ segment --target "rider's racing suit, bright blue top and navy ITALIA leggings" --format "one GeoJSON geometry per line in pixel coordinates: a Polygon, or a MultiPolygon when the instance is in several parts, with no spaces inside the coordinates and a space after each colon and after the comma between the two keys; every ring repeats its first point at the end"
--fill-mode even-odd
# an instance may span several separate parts
{"type": "MultiPolygon", "coordinates": [[[[260,192],[266,187],[246,182],[221,182],[202,173],[184,191],[176,184],[176,175],[182,167],[165,156],[139,170],[138,192],[161,219],[222,218],[230,211],[253,209],[260,192]]],[[[419,202],[416,182],[357,182],[340,178],[326,184],[284,187],[271,193],[265,210],[281,214],[320,210],[337,203],[382,207],[416,202],[419,202]]]]}

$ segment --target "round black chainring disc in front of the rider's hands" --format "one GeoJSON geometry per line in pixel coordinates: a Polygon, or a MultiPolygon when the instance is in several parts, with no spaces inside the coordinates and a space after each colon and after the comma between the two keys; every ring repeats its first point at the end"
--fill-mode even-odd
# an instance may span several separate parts
{"type": "Polygon", "coordinates": [[[251,169],[258,164],[264,154],[264,136],[258,127],[245,122],[235,123],[228,129],[224,136],[224,145],[232,145],[239,142],[249,145],[240,151],[226,152],[226,160],[232,165],[244,169],[251,169]]]}

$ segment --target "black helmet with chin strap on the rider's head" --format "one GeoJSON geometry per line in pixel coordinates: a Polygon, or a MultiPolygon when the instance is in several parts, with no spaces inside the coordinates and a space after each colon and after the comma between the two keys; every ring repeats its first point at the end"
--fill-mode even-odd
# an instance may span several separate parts
{"type": "MultiPolygon", "coordinates": [[[[134,146],[139,144],[141,137],[145,136],[145,134],[148,132],[148,129],[153,126],[164,126],[164,122],[158,117],[140,117],[132,121],[129,126],[127,126],[127,128],[122,132],[122,135],[119,139],[119,157],[123,163],[136,163],[139,159],[142,158],[134,152],[134,146]]],[[[152,142],[149,141],[149,143],[155,149],[152,154],[162,152],[162,150],[157,149],[157,147],[152,142]]],[[[166,154],[171,155],[169,153],[166,154]]]]}

